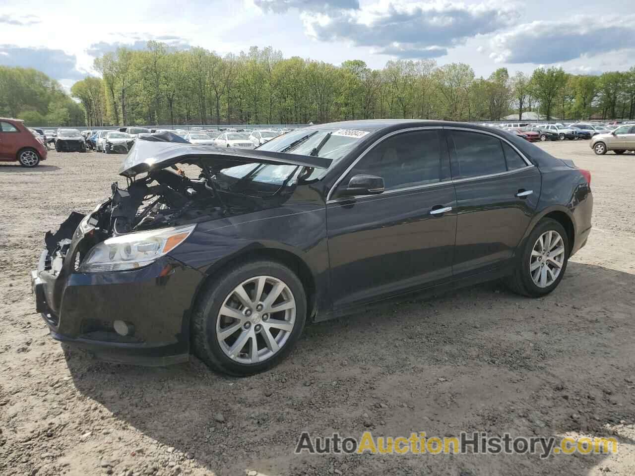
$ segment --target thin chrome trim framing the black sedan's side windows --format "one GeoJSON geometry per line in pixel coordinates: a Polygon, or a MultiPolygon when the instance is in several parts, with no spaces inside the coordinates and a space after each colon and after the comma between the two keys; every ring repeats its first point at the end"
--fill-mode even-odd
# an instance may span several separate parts
{"type": "MultiPolygon", "coordinates": [[[[518,154],[522,157],[523,161],[525,161],[525,164],[527,164],[527,165],[525,167],[521,167],[519,169],[505,170],[504,172],[491,173],[491,174],[488,174],[488,175],[476,175],[476,176],[473,176],[473,177],[455,178],[455,179],[451,179],[451,180],[441,180],[440,182],[425,183],[424,185],[414,185],[413,187],[393,188],[392,190],[386,190],[382,194],[378,194],[378,195],[352,195],[352,196],[341,197],[341,198],[342,199],[358,199],[358,198],[363,198],[363,197],[378,197],[379,195],[388,195],[388,194],[392,194],[392,193],[395,193],[395,192],[403,192],[404,190],[417,190],[418,188],[433,187],[434,185],[441,185],[442,183],[462,183],[462,182],[469,182],[470,180],[479,180],[481,178],[491,178],[491,177],[495,177],[495,176],[499,176],[499,175],[510,175],[512,173],[520,172],[520,171],[527,170],[527,169],[535,167],[535,165],[532,164],[531,161],[529,159],[527,159],[527,157],[525,157],[525,154],[523,154],[523,152],[521,152],[518,149],[518,147],[516,147],[514,144],[509,142],[509,140],[507,140],[506,138],[504,138],[504,137],[502,137],[502,136],[500,136],[498,134],[491,133],[490,131],[481,131],[479,129],[453,127],[453,126],[424,126],[424,127],[418,127],[418,128],[399,129],[398,131],[392,131],[391,133],[388,133],[388,134],[386,134],[384,136],[381,136],[375,142],[371,143],[371,145],[366,147],[366,150],[364,150],[364,152],[359,154],[359,157],[357,159],[355,159],[352,162],[352,164],[349,165],[345,169],[345,171],[342,173],[342,175],[339,176],[339,178],[335,181],[335,183],[333,183],[333,186],[328,191],[328,195],[326,195],[326,204],[328,205],[328,204],[337,203],[337,202],[340,201],[340,199],[331,199],[331,195],[333,194],[333,191],[335,190],[335,188],[337,188],[338,185],[340,185],[340,182],[342,182],[342,180],[344,180],[344,177],[352,170],[352,168],[354,166],[356,166],[357,162],[359,162],[364,157],[364,155],[368,154],[368,152],[370,152],[370,150],[373,149],[373,147],[375,147],[375,145],[377,145],[378,143],[382,142],[384,139],[387,139],[387,138],[392,137],[394,135],[398,135],[400,133],[412,132],[412,131],[426,131],[426,130],[429,131],[429,130],[434,130],[434,129],[452,129],[452,130],[457,130],[457,131],[476,132],[476,133],[481,133],[481,134],[485,134],[485,135],[494,136],[494,137],[496,137],[496,138],[498,138],[500,140],[504,140],[505,142],[507,142],[507,144],[509,144],[509,146],[512,147],[512,149],[514,149],[514,150],[516,150],[516,152],[518,152],[518,154]]],[[[506,166],[506,164],[505,164],[505,166],[506,166]]]]}

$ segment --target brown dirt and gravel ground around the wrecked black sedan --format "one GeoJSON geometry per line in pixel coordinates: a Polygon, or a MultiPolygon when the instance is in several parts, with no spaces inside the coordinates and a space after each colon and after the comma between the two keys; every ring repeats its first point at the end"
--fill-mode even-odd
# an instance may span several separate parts
{"type": "Polygon", "coordinates": [[[635,154],[541,144],[592,171],[594,230],[550,296],[499,283],[306,329],[290,357],[227,378],[196,359],[107,364],[48,337],[29,270],[72,210],[109,195],[121,155],[0,164],[3,475],[635,474],[635,154]],[[296,456],[314,435],[615,436],[610,456],[296,456]]]}

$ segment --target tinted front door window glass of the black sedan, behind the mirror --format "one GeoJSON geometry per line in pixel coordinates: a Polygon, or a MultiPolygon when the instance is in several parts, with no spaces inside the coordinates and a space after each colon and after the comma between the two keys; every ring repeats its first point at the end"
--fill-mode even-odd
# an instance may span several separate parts
{"type": "Polygon", "coordinates": [[[386,190],[440,182],[439,131],[412,131],[387,138],[355,164],[342,186],[346,187],[355,175],[381,177],[386,190]]]}

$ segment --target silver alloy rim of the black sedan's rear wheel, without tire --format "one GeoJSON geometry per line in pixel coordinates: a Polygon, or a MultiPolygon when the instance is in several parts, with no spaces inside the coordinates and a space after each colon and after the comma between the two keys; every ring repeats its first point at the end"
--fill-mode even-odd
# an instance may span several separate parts
{"type": "Polygon", "coordinates": [[[558,232],[549,230],[538,237],[529,260],[531,281],[538,288],[551,286],[565,264],[565,242],[558,232]]]}

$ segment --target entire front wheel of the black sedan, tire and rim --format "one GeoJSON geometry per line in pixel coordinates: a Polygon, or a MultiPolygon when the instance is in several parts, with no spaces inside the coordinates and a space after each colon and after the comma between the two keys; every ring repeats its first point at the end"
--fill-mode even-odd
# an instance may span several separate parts
{"type": "MultiPolygon", "coordinates": [[[[266,299],[258,301],[262,301],[267,305],[266,299]]],[[[203,360],[205,364],[215,371],[234,376],[253,375],[275,366],[291,351],[293,345],[300,338],[300,334],[302,334],[306,314],[307,303],[304,286],[302,286],[302,282],[297,275],[288,267],[277,261],[269,260],[241,263],[218,275],[213,282],[210,282],[203,289],[192,315],[192,350],[199,359],[203,360]],[[267,314],[260,315],[267,310],[267,307],[265,307],[264,311],[261,311],[258,307],[255,307],[256,303],[250,302],[248,303],[250,307],[247,307],[236,300],[237,294],[235,291],[239,288],[242,288],[243,291],[246,291],[245,288],[249,289],[249,291],[246,291],[246,295],[251,300],[251,296],[256,293],[258,288],[256,283],[260,282],[258,280],[261,278],[266,280],[264,286],[260,286],[264,290],[262,296],[274,289],[272,287],[274,282],[276,282],[275,286],[278,286],[278,282],[282,283],[281,286],[286,286],[286,288],[281,291],[280,296],[274,302],[283,299],[287,303],[295,303],[293,310],[279,311],[276,313],[275,318],[271,317],[269,319],[267,314]],[[254,280],[253,284],[250,282],[251,280],[254,280]],[[250,288],[250,286],[253,287],[250,288]],[[283,294],[286,294],[286,296],[283,296],[283,294]],[[230,314],[221,315],[221,308],[231,308],[231,315],[236,314],[237,317],[225,317],[230,314]],[[294,311],[295,315],[291,317],[291,313],[294,311]],[[281,313],[284,313],[284,315],[281,313]],[[237,319],[241,319],[240,322],[243,322],[242,326],[237,319]],[[265,319],[267,319],[267,322],[265,322],[265,319]],[[276,329],[272,324],[274,319],[276,322],[283,322],[282,319],[292,321],[293,324],[290,327],[290,331],[276,329]],[[231,322],[228,323],[227,320],[231,322]],[[222,325],[225,327],[221,327],[222,325]],[[272,327],[270,328],[269,325],[272,327]],[[237,326],[236,331],[228,334],[225,340],[218,336],[220,330],[234,326],[237,326]],[[258,330],[259,326],[260,330],[258,330]],[[276,336],[273,336],[272,332],[276,332],[276,336]],[[276,342],[274,346],[268,345],[264,339],[265,333],[269,338],[279,342],[276,342]],[[253,338],[247,337],[244,344],[234,350],[234,357],[230,357],[229,354],[232,353],[231,346],[236,345],[238,338],[243,336],[253,336],[253,338]],[[254,358],[252,357],[252,346],[254,343],[257,349],[257,358],[255,359],[257,362],[255,363],[253,363],[254,358]],[[260,348],[260,345],[263,347],[260,348]],[[280,346],[279,349],[272,350],[272,347],[277,347],[277,345],[280,346]],[[243,352],[240,352],[241,350],[243,352]],[[262,356],[259,355],[261,351],[264,353],[262,356]],[[243,362],[239,360],[243,360],[243,362]]]]}

